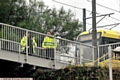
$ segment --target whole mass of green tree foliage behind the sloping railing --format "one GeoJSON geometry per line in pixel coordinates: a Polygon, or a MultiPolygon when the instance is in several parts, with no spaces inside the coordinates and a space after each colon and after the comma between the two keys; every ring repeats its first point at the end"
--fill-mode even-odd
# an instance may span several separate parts
{"type": "Polygon", "coordinates": [[[0,0],[0,22],[73,40],[81,32],[81,23],[71,10],[50,9],[42,1],[0,0]]]}

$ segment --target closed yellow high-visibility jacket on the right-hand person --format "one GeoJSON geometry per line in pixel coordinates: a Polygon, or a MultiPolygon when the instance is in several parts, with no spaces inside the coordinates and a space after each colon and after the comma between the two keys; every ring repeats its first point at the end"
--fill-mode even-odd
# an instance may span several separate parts
{"type": "Polygon", "coordinates": [[[56,48],[57,43],[54,38],[46,36],[42,43],[42,48],[56,48]]]}

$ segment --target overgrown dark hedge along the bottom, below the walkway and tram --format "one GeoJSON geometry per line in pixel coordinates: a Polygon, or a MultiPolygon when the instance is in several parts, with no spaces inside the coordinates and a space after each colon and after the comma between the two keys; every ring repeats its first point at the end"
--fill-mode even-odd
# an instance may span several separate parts
{"type": "MultiPolygon", "coordinates": [[[[32,75],[39,80],[109,80],[106,67],[68,67],[60,70],[37,70],[32,75]]],[[[113,70],[113,80],[120,80],[120,72],[113,70]]]]}

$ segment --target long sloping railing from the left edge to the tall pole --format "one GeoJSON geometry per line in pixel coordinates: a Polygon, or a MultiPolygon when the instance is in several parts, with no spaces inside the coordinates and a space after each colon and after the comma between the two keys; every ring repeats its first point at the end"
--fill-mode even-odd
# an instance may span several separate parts
{"type": "Polygon", "coordinates": [[[73,64],[94,62],[95,47],[93,46],[50,36],[54,39],[54,42],[57,45],[57,47],[54,48],[54,50],[47,50],[46,48],[42,47],[44,38],[48,36],[46,34],[3,23],[0,23],[0,29],[2,33],[0,41],[2,50],[26,53],[26,58],[28,58],[28,55],[33,55],[40,58],[55,59],[55,61],[60,61],[64,63],[68,63],[69,60],[71,60],[73,64]],[[31,35],[30,39],[26,37],[28,36],[28,34],[31,35]],[[25,42],[23,44],[25,47],[24,50],[22,50],[23,45],[21,45],[21,40],[23,39],[23,37],[25,40],[23,41],[23,43],[25,42]],[[37,45],[31,48],[30,45],[33,45],[33,38],[37,45]],[[33,50],[30,51],[30,49],[33,50]],[[50,54],[47,54],[47,52],[50,54]]]}

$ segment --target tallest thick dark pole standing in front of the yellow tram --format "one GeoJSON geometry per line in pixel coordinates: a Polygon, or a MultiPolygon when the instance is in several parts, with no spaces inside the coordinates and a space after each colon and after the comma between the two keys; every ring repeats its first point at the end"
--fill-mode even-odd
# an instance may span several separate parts
{"type": "MultiPolygon", "coordinates": [[[[94,50],[94,59],[96,60],[98,58],[97,55],[97,36],[96,36],[96,0],[92,0],[92,44],[95,46],[94,50]]],[[[95,62],[95,65],[97,65],[98,61],[95,62]]]]}

